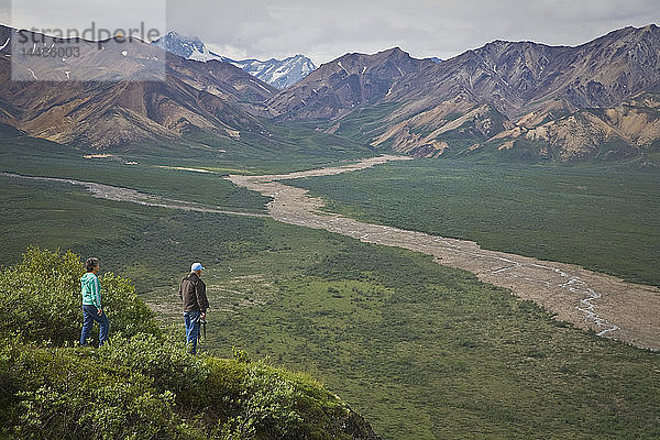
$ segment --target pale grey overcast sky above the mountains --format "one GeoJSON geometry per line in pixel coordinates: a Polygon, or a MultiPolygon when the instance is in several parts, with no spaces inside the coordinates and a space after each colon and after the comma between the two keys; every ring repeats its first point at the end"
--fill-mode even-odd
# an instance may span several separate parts
{"type": "Polygon", "coordinates": [[[14,0],[11,24],[84,26],[106,20],[136,26],[144,20],[198,36],[232,58],[300,53],[317,65],[348,52],[394,46],[417,58],[450,58],[497,38],[578,45],[615,29],[660,22],[658,0],[58,0],[55,4],[14,0]]]}

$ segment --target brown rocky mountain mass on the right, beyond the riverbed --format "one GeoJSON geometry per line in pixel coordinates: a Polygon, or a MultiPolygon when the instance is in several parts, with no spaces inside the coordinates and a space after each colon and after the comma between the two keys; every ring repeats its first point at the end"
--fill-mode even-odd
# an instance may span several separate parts
{"type": "Polygon", "coordinates": [[[268,106],[280,120],[329,119],[319,128],[417,156],[496,147],[619,157],[658,145],[657,108],[636,102],[654,102],[638,94],[659,85],[660,29],[651,24],[576,47],[495,41],[442,63],[398,48],[349,54],[268,106]],[[644,135],[619,127],[631,119],[644,135]]]}

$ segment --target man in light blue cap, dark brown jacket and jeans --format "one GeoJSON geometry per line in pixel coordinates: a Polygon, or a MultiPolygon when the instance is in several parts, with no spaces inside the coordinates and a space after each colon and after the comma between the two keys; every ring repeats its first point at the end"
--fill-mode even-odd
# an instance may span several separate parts
{"type": "Polygon", "coordinates": [[[197,353],[199,324],[206,319],[209,300],[206,297],[206,284],[201,280],[201,263],[193,263],[190,273],[179,286],[179,298],[184,302],[184,319],[186,321],[186,341],[188,351],[197,353]]]}

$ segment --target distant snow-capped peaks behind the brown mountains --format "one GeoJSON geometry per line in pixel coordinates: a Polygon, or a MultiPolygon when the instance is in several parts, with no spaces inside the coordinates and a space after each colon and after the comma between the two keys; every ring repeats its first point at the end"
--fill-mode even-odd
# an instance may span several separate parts
{"type": "Polygon", "coordinates": [[[316,69],[311,59],[300,54],[284,59],[271,58],[265,62],[260,59],[234,61],[216,54],[201,40],[182,35],[176,31],[170,31],[154,40],[152,44],[186,59],[199,62],[216,59],[231,63],[277,89],[293,86],[316,69]]]}

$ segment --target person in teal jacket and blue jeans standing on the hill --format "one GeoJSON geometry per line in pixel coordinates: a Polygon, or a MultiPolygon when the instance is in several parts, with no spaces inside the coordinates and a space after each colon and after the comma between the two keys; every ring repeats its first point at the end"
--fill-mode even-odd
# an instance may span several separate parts
{"type": "Polygon", "coordinates": [[[85,262],[87,273],[80,278],[80,294],[82,295],[82,331],[80,332],[80,345],[87,345],[87,338],[91,332],[94,321],[99,323],[99,346],[108,340],[110,321],[101,307],[101,284],[98,273],[101,270],[99,258],[87,258],[85,262]]]}

